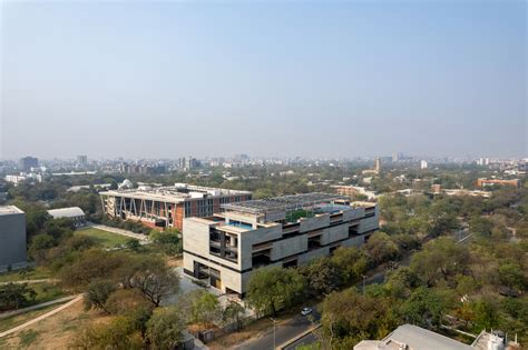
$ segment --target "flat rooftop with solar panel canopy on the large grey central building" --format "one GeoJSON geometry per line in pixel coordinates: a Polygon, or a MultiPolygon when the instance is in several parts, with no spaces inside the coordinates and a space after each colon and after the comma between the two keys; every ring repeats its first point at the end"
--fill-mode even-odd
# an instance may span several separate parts
{"type": "Polygon", "coordinates": [[[334,201],[350,201],[345,196],[330,194],[321,192],[303,193],[274,197],[268,199],[255,199],[239,203],[222,204],[225,210],[248,212],[248,213],[266,213],[281,210],[295,210],[313,207],[322,203],[331,203],[334,201]]]}

